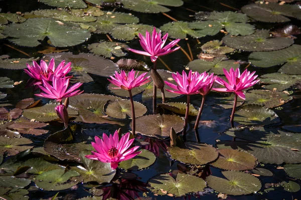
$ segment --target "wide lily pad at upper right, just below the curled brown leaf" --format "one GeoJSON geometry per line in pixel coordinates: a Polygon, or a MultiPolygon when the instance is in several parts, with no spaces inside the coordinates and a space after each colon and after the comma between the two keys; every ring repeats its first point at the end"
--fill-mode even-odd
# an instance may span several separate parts
{"type": "MultiPolygon", "coordinates": [[[[231,35],[228,34],[223,37],[223,42],[227,46],[240,49],[240,50],[271,51],[271,50],[278,50],[290,46],[291,44],[293,44],[293,39],[290,37],[270,37],[269,30],[262,29],[262,30],[256,30],[255,33],[246,36],[232,37],[231,35]]],[[[268,56],[265,55],[265,59],[267,57],[268,56]]],[[[256,59],[258,60],[257,57],[256,59]]]]}

